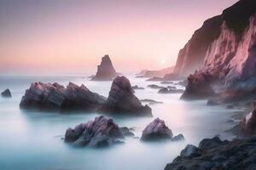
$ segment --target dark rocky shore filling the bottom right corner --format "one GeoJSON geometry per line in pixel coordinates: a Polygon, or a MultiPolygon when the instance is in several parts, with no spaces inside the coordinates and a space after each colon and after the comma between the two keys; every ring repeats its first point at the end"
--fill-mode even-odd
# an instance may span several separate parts
{"type": "Polygon", "coordinates": [[[198,147],[189,144],[165,170],[256,169],[256,137],[222,141],[203,139],[198,147]]]}

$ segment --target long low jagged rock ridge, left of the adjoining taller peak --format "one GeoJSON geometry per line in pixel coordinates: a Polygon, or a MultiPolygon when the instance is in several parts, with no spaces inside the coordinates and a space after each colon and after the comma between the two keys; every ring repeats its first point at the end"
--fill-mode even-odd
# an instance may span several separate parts
{"type": "Polygon", "coordinates": [[[69,82],[67,88],[58,83],[33,82],[20,101],[21,109],[40,111],[96,111],[106,98],[90,92],[83,84],[69,82]]]}

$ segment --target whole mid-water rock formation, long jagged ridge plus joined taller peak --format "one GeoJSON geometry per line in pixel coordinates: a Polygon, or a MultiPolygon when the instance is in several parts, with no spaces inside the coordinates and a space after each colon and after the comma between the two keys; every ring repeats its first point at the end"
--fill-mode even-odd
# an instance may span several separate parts
{"type": "Polygon", "coordinates": [[[152,116],[148,105],[143,106],[133,94],[126,77],[113,80],[108,99],[91,92],[83,84],[69,82],[67,88],[58,83],[33,82],[20,101],[21,109],[39,111],[99,111],[131,116],[152,116]]]}

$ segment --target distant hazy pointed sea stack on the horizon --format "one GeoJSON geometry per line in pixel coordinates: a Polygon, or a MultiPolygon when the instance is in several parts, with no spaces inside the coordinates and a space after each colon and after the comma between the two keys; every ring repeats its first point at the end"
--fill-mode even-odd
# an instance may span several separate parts
{"type": "Polygon", "coordinates": [[[92,77],[92,81],[110,81],[117,77],[118,73],[114,70],[111,59],[108,55],[102,57],[101,65],[98,65],[96,76],[92,77]]]}

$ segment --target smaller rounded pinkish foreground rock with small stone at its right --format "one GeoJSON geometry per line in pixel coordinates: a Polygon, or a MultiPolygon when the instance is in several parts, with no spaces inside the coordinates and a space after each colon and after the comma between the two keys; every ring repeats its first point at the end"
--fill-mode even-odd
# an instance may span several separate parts
{"type": "Polygon", "coordinates": [[[160,118],[154,119],[150,122],[147,127],[143,130],[143,135],[141,137],[142,141],[159,141],[163,139],[169,139],[172,141],[183,140],[182,134],[178,134],[173,137],[172,130],[166,126],[166,123],[160,118]]]}

